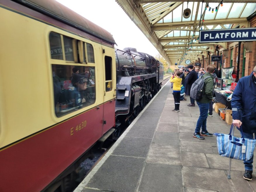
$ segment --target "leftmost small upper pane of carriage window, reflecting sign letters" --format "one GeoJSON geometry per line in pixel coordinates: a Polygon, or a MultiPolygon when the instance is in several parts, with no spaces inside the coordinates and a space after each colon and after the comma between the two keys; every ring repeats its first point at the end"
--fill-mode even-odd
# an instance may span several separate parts
{"type": "Polygon", "coordinates": [[[51,58],[63,60],[60,34],[51,32],[50,36],[51,58]]]}

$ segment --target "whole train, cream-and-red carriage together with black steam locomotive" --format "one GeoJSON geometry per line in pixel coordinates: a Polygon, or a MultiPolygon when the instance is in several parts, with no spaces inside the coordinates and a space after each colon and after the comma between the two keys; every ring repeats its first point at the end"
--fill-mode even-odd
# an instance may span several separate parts
{"type": "Polygon", "coordinates": [[[0,0],[0,21],[0,191],[70,191],[92,146],[161,88],[163,66],[115,49],[109,32],[54,0],[0,0]]]}

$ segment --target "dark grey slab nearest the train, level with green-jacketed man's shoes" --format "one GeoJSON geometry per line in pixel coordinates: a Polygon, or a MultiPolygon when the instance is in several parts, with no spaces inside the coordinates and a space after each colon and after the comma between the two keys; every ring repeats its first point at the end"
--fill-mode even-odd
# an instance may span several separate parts
{"type": "Polygon", "coordinates": [[[155,133],[155,126],[134,125],[125,136],[126,137],[153,138],[154,133],[155,133]]]}

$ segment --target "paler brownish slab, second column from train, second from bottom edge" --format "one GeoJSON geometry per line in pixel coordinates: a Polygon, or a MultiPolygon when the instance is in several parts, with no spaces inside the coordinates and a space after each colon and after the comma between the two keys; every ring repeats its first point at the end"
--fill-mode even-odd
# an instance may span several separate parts
{"type": "Polygon", "coordinates": [[[146,162],[166,165],[181,165],[180,147],[152,144],[146,162]]]}

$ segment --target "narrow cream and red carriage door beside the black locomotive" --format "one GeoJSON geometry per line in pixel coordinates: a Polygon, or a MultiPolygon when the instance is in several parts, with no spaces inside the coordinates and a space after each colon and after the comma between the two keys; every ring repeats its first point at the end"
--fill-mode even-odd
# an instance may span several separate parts
{"type": "Polygon", "coordinates": [[[113,81],[113,49],[105,49],[104,61],[104,111],[103,134],[115,125],[115,86],[113,81]],[[108,54],[109,52],[109,54],[108,54]]]}

